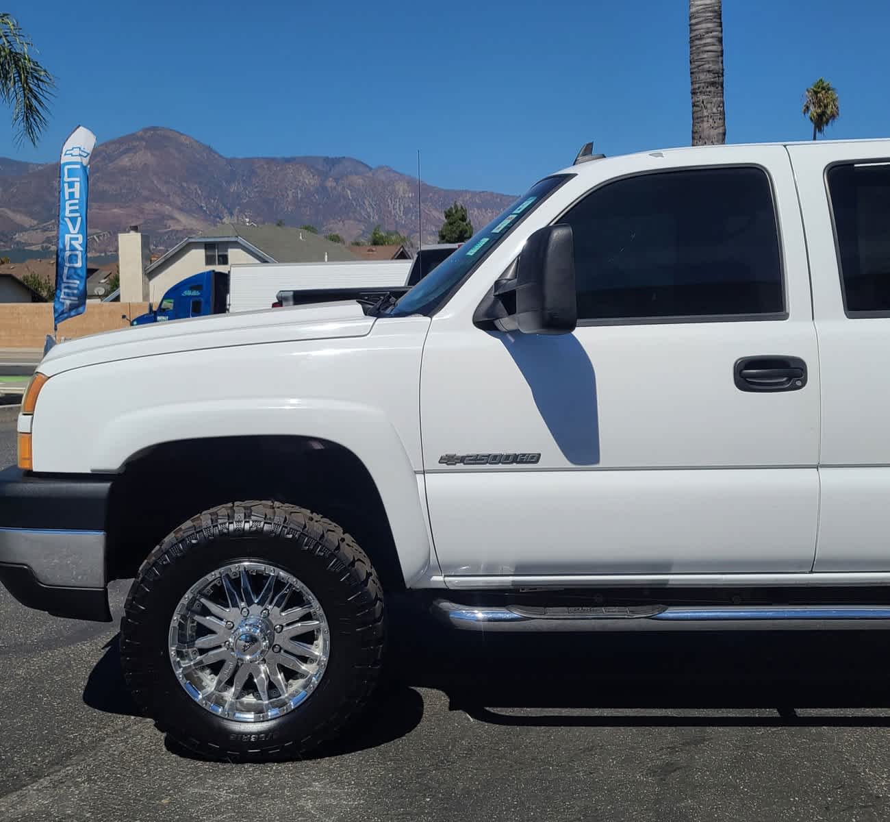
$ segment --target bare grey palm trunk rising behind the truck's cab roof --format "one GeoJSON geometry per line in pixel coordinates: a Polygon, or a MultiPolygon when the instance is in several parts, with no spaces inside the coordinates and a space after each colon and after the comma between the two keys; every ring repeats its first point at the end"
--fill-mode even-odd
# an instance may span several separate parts
{"type": "Polygon", "coordinates": [[[726,142],[721,0],[689,0],[692,145],[726,142]]]}

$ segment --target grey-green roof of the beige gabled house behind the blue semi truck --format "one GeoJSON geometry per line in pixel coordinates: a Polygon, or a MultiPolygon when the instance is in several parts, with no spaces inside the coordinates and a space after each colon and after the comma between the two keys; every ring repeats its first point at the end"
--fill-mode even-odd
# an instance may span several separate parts
{"type": "Polygon", "coordinates": [[[352,262],[355,259],[347,248],[338,242],[331,242],[318,234],[287,225],[241,225],[221,223],[205,232],[182,240],[167,253],[155,260],[146,274],[163,265],[168,258],[190,243],[195,242],[238,242],[268,263],[323,263],[352,262]]]}

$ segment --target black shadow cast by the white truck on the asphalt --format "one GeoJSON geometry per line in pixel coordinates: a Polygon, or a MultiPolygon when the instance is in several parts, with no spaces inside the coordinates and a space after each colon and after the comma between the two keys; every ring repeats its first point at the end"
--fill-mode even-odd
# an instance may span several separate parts
{"type": "MultiPolygon", "coordinates": [[[[485,634],[450,631],[415,606],[393,607],[390,624],[387,674],[366,719],[315,757],[407,736],[424,717],[418,688],[516,728],[890,727],[884,631],[485,634]]],[[[84,702],[135,713],[117,637],[84,702]]]]}

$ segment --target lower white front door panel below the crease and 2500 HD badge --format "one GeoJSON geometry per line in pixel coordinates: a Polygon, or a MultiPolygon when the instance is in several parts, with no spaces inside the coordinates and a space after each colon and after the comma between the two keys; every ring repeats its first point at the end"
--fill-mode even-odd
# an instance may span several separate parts
{"type": "Polygon", "coordinates": [[[504,470],[426,492],[446,576],[761,574],[813,566],[816,484],[809,468],[504,470]]]}

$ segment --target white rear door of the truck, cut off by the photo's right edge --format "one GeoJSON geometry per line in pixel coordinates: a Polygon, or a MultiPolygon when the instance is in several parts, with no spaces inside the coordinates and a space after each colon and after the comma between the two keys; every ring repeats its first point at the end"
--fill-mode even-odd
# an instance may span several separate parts
{"type": "Polygon", "coordinates": [[[890,571],[890,141],[793,145],[789,154],[810,248],[823,386],[813,570],[890,571]]]}

